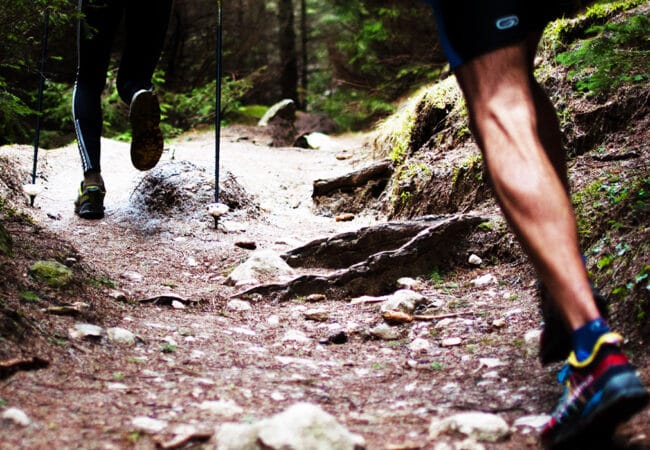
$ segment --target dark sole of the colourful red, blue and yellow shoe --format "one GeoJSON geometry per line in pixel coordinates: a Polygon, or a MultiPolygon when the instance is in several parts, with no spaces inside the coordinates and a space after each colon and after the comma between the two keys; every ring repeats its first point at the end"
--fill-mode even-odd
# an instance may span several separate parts
{"type": "Polygon", "coordinates": [[[616,427],[643,410],[649,401],[650,394],[635,374],[612,377],[603,388],[600,404],[589,415],[589,420],[571,426],[550,442],[547,440],[544,446],[554,450],[603,448],[616,427]]]}

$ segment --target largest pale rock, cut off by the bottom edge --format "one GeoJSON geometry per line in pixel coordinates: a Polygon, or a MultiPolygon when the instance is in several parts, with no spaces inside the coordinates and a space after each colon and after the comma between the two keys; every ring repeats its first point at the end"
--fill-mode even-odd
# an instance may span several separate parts
{"type": "Polygon", "coordinates": [[[365,446],[363,437],[311,403],[297,403],[254,424],[224,424],[215,439],[217,450],[358,450],[365,446]]]}

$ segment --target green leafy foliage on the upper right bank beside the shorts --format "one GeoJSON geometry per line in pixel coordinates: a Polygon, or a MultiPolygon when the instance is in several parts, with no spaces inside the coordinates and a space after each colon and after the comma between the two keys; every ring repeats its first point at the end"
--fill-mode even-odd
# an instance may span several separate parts
{"type": "Polygon", "coordinates": [[[579,91],[606,94],[624,84],[650,80],[650,18],[632,16],[620,23],[594,25],[596,36],[558,55],[571,68],[569,79],[579,91]]]}

